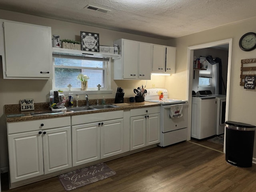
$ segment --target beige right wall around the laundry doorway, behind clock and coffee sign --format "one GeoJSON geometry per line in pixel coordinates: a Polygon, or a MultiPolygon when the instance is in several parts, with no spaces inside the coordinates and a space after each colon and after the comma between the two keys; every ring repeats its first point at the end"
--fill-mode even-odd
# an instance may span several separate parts
{"type": "MultiPolygon", "coordinates": [[[[169,40],[172,46],[176,46],[176,68],[179,71],[186,74],[187,60],[188,60],[188,47],[200,44],[206,44],[210,42],[216,42],[220,40],[232,38],[232,62],[231,62],[231,74],[230,74],[230,98],[228,109],[228,120],[236,122],[244,122],[252,125],[256,125],[256,118],[254,109],[256,108],[256,91],[245,90],[243,86],[240,86],[240,67],[241,60],[247,58],[256,58],[256,50],[245,52],[239,47],[239,40],[242,35],[247,32],[256,32],[256,18],[237,22],[227,26],[206,30],[196,34],[191,34],[181,38],[169,40]]],[[[181,97],[186,97],[187,84],[182,83],[179,86],[176,82],[182,82],[183,76],[176,76],[175,79],[170,78],[169,86],[176,94],[180,94],[181,97]]],[[[190,98],[191,99],[191,98],[190,98]]],[[[190,114],[191,115],[191,114],[190,114]]],[[[254,140],[254,158],[256,158],[256,144],[254,140]]]]}

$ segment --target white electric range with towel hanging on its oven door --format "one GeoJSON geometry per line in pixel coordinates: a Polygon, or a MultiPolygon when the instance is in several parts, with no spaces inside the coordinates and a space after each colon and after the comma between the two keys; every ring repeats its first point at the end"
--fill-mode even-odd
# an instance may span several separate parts
{"type": "Polygon", "coordinates": [[[160,103],[160,143],[161,147],[187,140],[188,132],[188,101],[168,98],[166,89],[147,89],[145,101],[160,103]],[[158,92],[164,98],[159,100],[158,92]]]}

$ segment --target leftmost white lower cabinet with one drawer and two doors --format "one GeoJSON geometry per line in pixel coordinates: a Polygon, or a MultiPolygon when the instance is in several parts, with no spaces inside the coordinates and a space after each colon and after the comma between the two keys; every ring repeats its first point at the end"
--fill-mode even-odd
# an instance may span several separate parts
{"type": "Polygon", "coordinates": [[[70,117],[7,123],[7,130],[11,183],[72,167],[70,117]]]}

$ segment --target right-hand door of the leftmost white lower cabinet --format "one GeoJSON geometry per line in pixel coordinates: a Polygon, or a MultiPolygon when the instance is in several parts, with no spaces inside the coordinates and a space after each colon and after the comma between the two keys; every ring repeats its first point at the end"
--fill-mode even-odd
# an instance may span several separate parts
{"type": "Polygon", "coordinates": [[[43,131],[44,174],[72,167],[71,127],[43,131]]]}

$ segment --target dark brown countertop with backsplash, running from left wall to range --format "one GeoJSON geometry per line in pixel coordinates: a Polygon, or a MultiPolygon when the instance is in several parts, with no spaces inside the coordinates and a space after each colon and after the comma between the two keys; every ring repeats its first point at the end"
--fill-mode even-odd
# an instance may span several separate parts
{"type": "MultiPolygon", "coordinates": [[[[94,104],[94,102],[92,103],[94,104]]],[[[111,99],[107,100],[106,103],[114,104],[114,102],[111,99]]],[[[82,105],[79,105],[79,106],[85,105],[85,103],[83,102],[81,102],[81,104],[82,105]]],[[[70,112],[68,110],[64,110],[64,111],[61,111],[60,113],[57,112],[56,114],[53,112],[50,114],[32,116],[32,113],[36,113],[36,112],[38,113],[51,112],[51,110],[49,109],[49,103],[35,103],[34,104],[35,110],[30,110],[30,111],[20,111],[20,105],[14,104],[14,105],[5,105],[5,114],[6,114],[6,122],[19,122],[19,121],[40,120],[40,119],[59,118],[59,117],[82,115],[82,114],[109,112],[109,111],[116,111],[116,110],[130,110],[130,109],[136,109],[136,108],[146,108],[150,106],[160,106],[160,104],[154,103],[154,102],[145,101],[145,102],[130,103],[130,102],[127,102],[127,100],[125,100],[124,104],[114,104],[114,105],[117,105],[119,107],[105,108],[105,109],[99,109],[99,110],[80,111],[80,112],[70,112]]]]}

